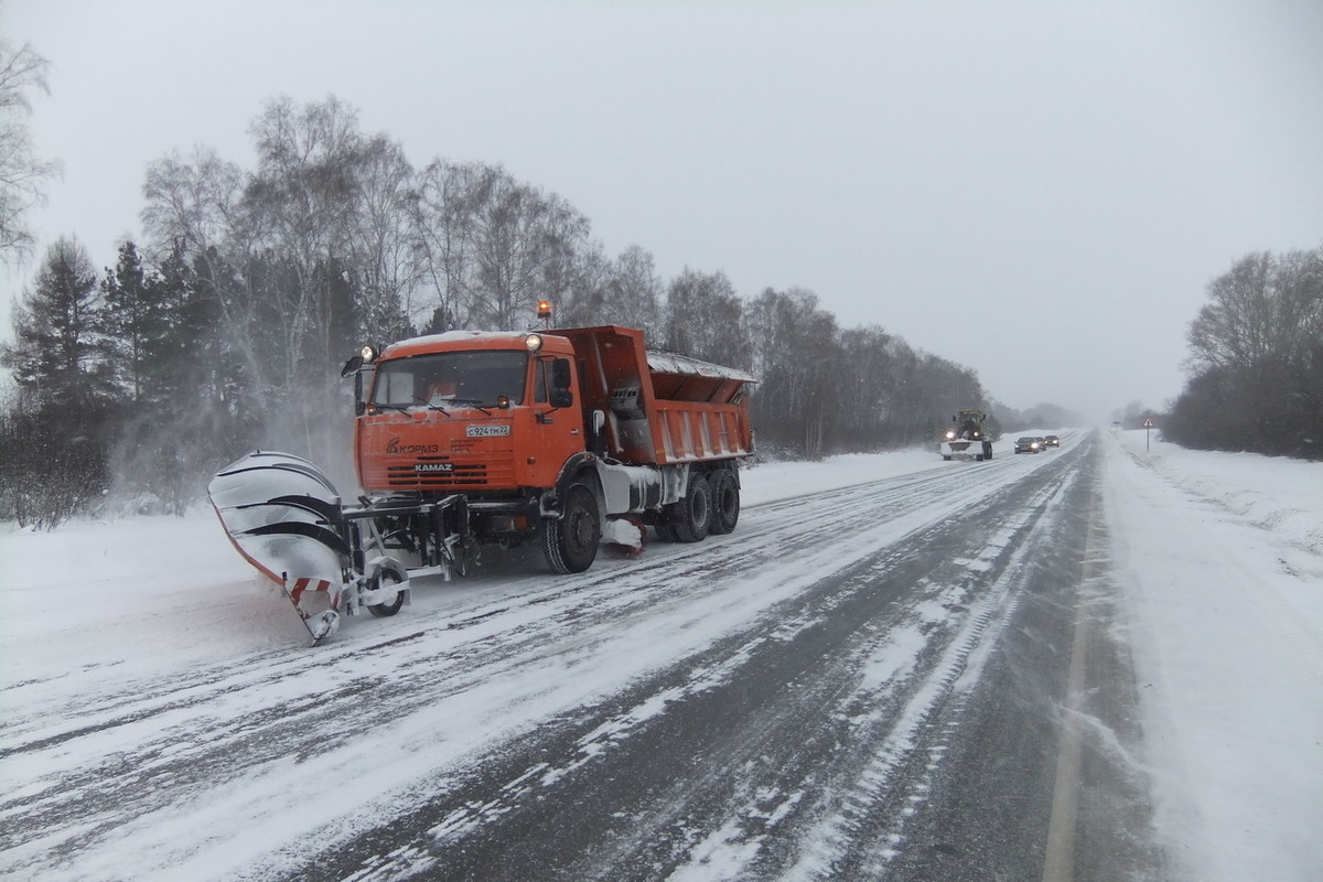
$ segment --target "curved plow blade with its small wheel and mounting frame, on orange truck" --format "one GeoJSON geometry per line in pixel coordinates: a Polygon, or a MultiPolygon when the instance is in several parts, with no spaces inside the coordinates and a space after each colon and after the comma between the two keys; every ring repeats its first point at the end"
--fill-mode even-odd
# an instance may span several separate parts
{"type": "MultiPolygon", "coordinates": [[[[390,616],[409,602],[410,570],[386,554],[376,522],[390,510],[345,508],[308,460],[254,451],[217,472],[206,492],[234,547],[283,588],[312,643],[335,633],[341,615],[390,616]]],[[[439,514],[455,505],[463,500],[423,508],[439,514]]],[[[454,550],[438,549],[433,566],[411,573],[448,578],[454,550]]]]}

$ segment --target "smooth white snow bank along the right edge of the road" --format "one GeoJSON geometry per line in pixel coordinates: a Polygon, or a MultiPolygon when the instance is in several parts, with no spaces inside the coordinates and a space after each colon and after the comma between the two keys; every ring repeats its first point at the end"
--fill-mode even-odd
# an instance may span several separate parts
{"type": "Polygon", "coordinates": [[[1162,834],[1199,882],[1323,870],[1323,464],[1107,435],[1162,834]]]}

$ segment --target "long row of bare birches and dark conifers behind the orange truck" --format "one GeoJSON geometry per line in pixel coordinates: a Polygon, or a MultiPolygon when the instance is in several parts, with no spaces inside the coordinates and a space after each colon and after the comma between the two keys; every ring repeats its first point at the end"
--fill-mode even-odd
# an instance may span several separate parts
{"type": "Polygon", "coordinates": [[[413,167],[331,97],[253,120],[251,168],[200,148],[153,161],[142,242],[97,268],[52,243],[0,361],[0,517],[53,525],[107,500],[183,512],[206,477],[280,447],[353,487],[349,391],[363,342],[459,328],[643,328],[650,345],[751,372],[763,455],[934,439],[984,407],[974,370],[878,327],[841,328],[811,291],[741,298],[720,271],[663,279],[607,255],[589,220],[499,165],[413,167]]]}

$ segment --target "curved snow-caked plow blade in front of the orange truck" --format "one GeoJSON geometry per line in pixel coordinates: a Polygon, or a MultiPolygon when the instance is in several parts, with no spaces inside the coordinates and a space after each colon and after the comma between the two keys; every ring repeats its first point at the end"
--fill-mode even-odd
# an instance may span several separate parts
{"type": "Polygon", "coordinates": [[[206,485],[239,554],[278,583],[316,643],[336,631],[349,566],[340,495],[308,460],[254,451],[206,485]]]}

